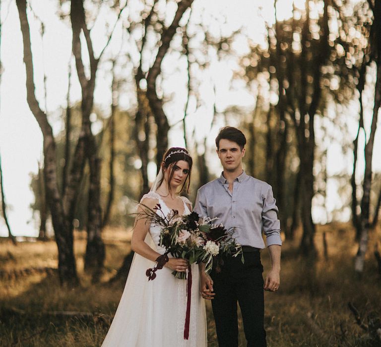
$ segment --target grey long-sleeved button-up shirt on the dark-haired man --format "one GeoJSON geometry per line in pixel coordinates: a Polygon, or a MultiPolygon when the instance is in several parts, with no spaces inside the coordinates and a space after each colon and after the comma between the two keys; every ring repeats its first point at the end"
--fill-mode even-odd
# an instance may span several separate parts
{"type": "Polygon", "coordinates": [[[241,245],[264,248],[262,229],[267,246],[281,245],[278,208],[271,186],[244,171],[233,181],[233,192],[228,187],[221,173],[198,189],[193,210],[201,217],[217,217],[215,223],[222,223],[226,229],[235,227],[234,237],[241,245]]]}

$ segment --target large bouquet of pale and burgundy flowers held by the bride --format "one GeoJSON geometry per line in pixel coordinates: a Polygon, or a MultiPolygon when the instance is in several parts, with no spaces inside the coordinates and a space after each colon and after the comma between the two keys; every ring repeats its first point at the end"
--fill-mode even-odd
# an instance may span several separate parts
{"type": "MultiPolygon", "coordinates": [[[[156,270],[162,269],[168,261],[168,253],[176,258],[183,258],[193,263],[205,263],[205,272],[212,269],[213,260],[218,263],[222,256],[241,254],[244,262],[242,247],[233,237],[234,228],[226,230],[222,224],[214,224],[216,219],[203,218],[200,220],[196,212],[179,216],[177,210],[165,215],[160,204],[153,209],[140,204],[142,212],[138,218],[145,218],[147,223],[161,227],[159,245],[166,251],[158,257],[154,268],[148,269],[148,280],[156,277],[156,270]],[[159,212],[159,213],[158,213],[159,212]]],[[[187,279],[187,273],[173,271],[172,274],[179,279],[187,279]]]]}

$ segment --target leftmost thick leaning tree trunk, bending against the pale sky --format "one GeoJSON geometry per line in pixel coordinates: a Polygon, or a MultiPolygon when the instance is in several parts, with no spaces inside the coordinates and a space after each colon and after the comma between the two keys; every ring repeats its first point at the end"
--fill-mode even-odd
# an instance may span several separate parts
{"type": "Polygon", "coordinates": [[[44,139],[44,177],[58,246],[58,272],[60,282],[61,284],[68,286],[75,286],[78,284],[78,277],[73,252],[73,234],[70,222],[65,218],[62,198],[58,187],[56,143],[54,140],[52,127],[48,122],[46,114],[41,110],[35,96],[30,30],[26,14],[26,0],[16,0],[16,5],[19,13],[23,37],[27,102],[41,128],[44,139]]]}

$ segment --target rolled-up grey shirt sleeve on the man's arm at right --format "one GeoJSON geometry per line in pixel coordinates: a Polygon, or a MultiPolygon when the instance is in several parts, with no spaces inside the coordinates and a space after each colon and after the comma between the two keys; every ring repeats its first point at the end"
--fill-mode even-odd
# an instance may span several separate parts
{"type": "Polygon", "coordinates": [[[262,227],[266,235],[267,247],[272,244],[282,245],[280,238],[280,221],[278,219],[278,208],[276,200],[272,193],[270,185],[267,186],[267,191],[262,194],[263,210],[262,210],[262,227]]]}

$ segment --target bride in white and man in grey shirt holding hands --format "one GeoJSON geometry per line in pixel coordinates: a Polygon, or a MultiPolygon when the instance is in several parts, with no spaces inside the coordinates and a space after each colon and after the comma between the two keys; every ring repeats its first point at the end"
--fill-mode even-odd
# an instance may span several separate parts
{"type": "MultiPolygon", "coordinates": [[[[159,246],[160,226],[136,219],[131,239],[135,251],[126,286],[102,347],[206,347],[205,299],[212,300],[218,345],[238,347],[237,302],[240,305],[247,346],[266,346],[263,327],[263,290],[279,288],[280,223],[272,189],[266,182],[245,173],[245,135],[237,128],[224,127],[216,138],[217,155],[223,172],[219,178],[197,191],[193,211],[202,217],[218,218],[226,229],[235,228],[234,237],[242,245],[241,257],[227,257],[210,275],[204,264],[192,264],[193,285],[172,276],[186,272],[188,261],[169,257],[154,281],[147,281],[146,269],[152,268],[165,249],[159,246]],[[271,259],[271,269],[263,281],[260,262],[265,248],[262,230],[271,259]],[[191,295],[189,337],[184,338],[187,295],[191,295]]],[[[161,170],[141,204],[161,211],[177,210],[179,215],[192,211],[191,202],[179,193],[189,189],[192,158],[184,148],[170,148],[161,170]]],[[[141,207],[139,207],[140,209],[141,207]]],[[[138,210],[139,212],[139,210],[138,210]]]]}

